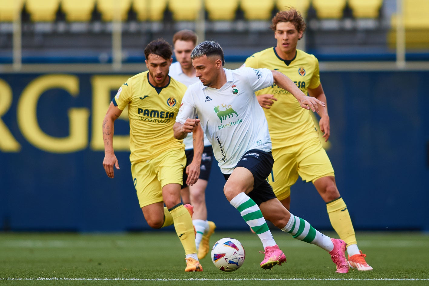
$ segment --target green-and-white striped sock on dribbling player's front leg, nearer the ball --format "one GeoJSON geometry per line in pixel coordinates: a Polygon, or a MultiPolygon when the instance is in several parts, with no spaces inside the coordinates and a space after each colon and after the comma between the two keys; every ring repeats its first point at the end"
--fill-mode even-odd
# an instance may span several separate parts
{"type": "Polygon", "coordinates": [[[246,223],[259,236],[264,248],[276,245],[260,208],[248,195],[239,193],[230,203],[239,210],[246,223]]]}

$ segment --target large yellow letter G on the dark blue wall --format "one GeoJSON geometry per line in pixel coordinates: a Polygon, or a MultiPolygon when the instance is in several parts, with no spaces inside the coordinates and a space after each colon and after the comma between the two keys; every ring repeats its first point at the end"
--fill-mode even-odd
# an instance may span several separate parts
{"type": "MultiPolygon", "coordinates": [[[[37,102],[46,90],[61,88],[76,97],[79,93],[79,78],[75,75],[42,75],[31,81],[22,91],[18,101],[18,125],[22,135],[37,148],[52,153],[69,153],[85,149],[88,145],[88,108],[70,108],[69,135],[53,137],[40,129],[37,120],[37,102]]],[[[43,116],[43,114],[40,114],[43,116]]]]}

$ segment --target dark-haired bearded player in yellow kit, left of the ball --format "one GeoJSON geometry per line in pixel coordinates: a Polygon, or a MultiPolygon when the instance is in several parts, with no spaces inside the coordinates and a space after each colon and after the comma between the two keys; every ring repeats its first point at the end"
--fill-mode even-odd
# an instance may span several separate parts
{"type": "MultiPolygon", "coordinates": [[[[185,271],[202,271],[196,253],[192,206],[184,206],[180,200],[186,164],[184,145],[174,138],[172,129],[186,86],[168,75],[172,63],[168,42],[150,42],[145,57],[149,70],[134,75],[119,88],[104,117],[103,166],[109,178],[114,178],[113,167],[119,169],[113,151],[114,122],[128,105],[131,173],[143,215],[154,229],[174,224],[186,253],[185,271]]],[[[202,151],[202,129],[197,125],[196,120],[191,120],[186,127],[200,138],[202,151]]],[[[194,184],[198,175],[199,169],[192,170],[187,184],[194,184]]]]}

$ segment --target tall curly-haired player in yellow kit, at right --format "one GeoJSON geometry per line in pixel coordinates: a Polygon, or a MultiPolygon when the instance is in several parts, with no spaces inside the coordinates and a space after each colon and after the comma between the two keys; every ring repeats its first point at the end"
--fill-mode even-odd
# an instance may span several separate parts
{"type": "MultiPolygon", "coordinates": [[[[287,75],[310,96],[326,102],[319,78],[319,63],[312,54],[296,49],[305,32],[305,22],[296,9],[278,12],[272,19],[277,46],[253,54],[243,66],[255,69],[275,69],[287,75]]],[[[347,206],[335,184],[334,169],[320,142],[317,128],[308,110],[300,107],[296,99],[284,96],[289,92],[273,84],[256,92],[264,108],[272,139],[275,163],[272,178],[268,178],[280,202],[290,208],[290,187],[298,176],[311,181],[326,202],[332,227],[347,246],[348,262],[358,270],[372,270],[366,255],[357,247],[356,236],[347,206]]],[[[320,108],[320,131],[328,140],[329,115],[327,105],[320,108]]]]}

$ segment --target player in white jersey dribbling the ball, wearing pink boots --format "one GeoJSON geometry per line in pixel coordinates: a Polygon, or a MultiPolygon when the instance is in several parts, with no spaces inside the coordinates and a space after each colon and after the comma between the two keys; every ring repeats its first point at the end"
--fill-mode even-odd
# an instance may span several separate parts
{"type": "Polygon", "coordinates": [[[324,103],[305,96],[287,76],[269,69],[224,69],[224,52],[212,41],[197,45],[192,53],[193,67],[201,82],[185,92],[174,136],[184,138],[199,124],[213,145],[218,165],[227,180],[224,194],[260,238],[264,259],[260,266],[270,269],[286,262],[265,219],[293,238],[315,244],[331,255],[337,273],[347,273],[345,243],[329,238],[307,221],[295,217],[276,198],[266,181],[274,160],[268,124],[255,91],[277,84],[295,96],[302,108],[318,111],[324,103]],[[207,99],[211,99],[208,101],[207,99]],[[265,218],[265,219],[264,219],[265,218]]]}

